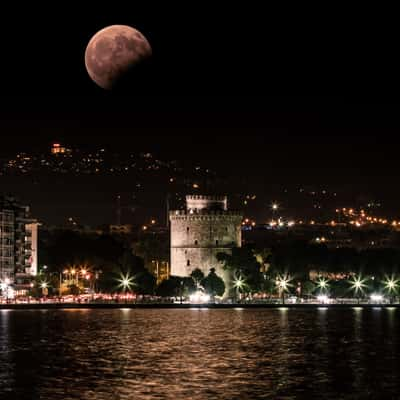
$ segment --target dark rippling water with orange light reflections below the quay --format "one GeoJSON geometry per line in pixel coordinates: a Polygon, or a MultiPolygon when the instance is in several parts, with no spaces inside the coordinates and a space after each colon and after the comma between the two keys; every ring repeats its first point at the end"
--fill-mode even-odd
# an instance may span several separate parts
{"type": "Polygon", "coordinates": [[[0,310],[0,399],[400,399],[400,310],[0,310]]]}

